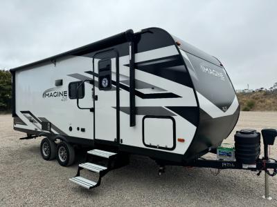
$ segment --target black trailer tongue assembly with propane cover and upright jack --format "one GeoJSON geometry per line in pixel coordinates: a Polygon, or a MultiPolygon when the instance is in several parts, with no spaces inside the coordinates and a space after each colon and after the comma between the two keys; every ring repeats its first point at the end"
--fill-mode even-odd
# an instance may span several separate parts
{"type": "MultiPolygon", "coordinates": [[[[215,159],[204,159],[200,157],[194,161],[184,164],[182,166],[198,167],[198,168],[215,168],[215,169],[233,169],[233,170],[251,170],[258,172],[260,176],[261,172],[265,172],[265,195],[264,199],[271,200],[269,196],[269,176],[274,177],[277,175],[277,160],[269,157],[269,146],[274,145],[274,141],[277,137],[277,130],[272,128],[265,128],[262,130],[262,140],[264,144],[264,156],[259,158],[260,155],[260,133],[256,130],[240,130],[235,135],[235,145],[238,146],[238,142],[244,138],[247,140],[248,145],[243,146],[244,154],[241,152],[241,146],[239,150],[235,151],[236,160],[215,160],[215,159]],[[247,139],[245,136],[238,136],[241,133],[248,135],[247,139]],[[253,136],[256,134],[256,136],[253,136]],[[258,143],[258,148],[253,148],[253,143],[258,143]],[[238,155],[239,154],[239,155],[238,155]],[[253,159],[253,157],[256,157],[253,159]],[[249,159],[250,158],[250,159],[249,159]],[[253,159],[253,162],[249,160],[253,159]]],[[[255,145],[254,145],[255,146],[255,145]]],[[[159,168],[159,175],[165,172],[164,166],[159,168]]]]}

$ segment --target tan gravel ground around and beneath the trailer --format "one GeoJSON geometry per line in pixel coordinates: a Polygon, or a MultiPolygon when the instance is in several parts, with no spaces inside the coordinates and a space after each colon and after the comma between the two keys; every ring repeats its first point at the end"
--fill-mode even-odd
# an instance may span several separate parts
{"type": "MultiPolygon", "coordinates": [[[[277,112],[242,112],[235,128],[277,128],[277,112]]],[[[233,142],[232,132],[226,143],[233,142]]],[[[129,166],[109,172],[100,187],[85,190],[69,182],[69,168],[40,156],[41,139],[20,141],[10,115],[0,115],[0,206],[277,206],[277,177],[270,177],[272,201],[262,199],[264,176],[244,170],[168,166],[159,177],[151,159],[132,156],[129,166]]],[[[276,146],[271,154],[277,158],[276,146]]],[[[84,155],[78,154],[78,161],[84,155]]],[[[90,175],[93,177],[92,173],[90,175]]]]}

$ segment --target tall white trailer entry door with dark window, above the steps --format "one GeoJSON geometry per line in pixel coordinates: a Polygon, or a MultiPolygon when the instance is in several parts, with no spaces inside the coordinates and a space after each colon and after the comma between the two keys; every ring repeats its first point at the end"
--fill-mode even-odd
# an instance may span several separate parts
{"type": "Polygon", "coordinates": [[[96,141],[117,141],[116,83],[118,57],[114,51],[101,52],[93,59],[94,72],[94,131],[96,141]]]}

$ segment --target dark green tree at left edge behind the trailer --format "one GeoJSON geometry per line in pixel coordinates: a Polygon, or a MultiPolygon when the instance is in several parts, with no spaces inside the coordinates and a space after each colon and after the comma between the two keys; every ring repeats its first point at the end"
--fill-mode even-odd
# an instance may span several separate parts
{"type": "Polygon", "coordinates": [[[12,109],[12,75],[0,70],[0,112],[12,109]]]}

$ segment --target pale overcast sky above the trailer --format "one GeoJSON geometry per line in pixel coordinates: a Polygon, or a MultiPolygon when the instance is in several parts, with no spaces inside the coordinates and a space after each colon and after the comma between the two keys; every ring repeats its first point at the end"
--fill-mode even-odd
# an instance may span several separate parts
{"type": "Polygon", "coordinates": [[[0,1],[0,69],[159,27],[220,59],[235,89],[277,82],[277,1],[0,1]]]}

